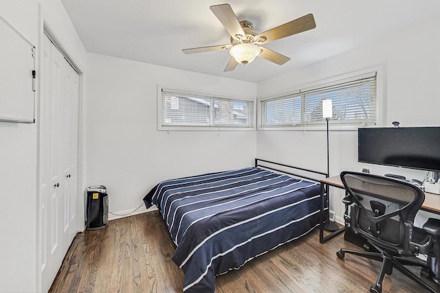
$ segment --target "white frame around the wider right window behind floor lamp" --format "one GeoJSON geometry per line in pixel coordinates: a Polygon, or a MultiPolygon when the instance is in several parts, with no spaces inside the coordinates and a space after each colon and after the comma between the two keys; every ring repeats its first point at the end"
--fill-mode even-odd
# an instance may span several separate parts
{"type": "MultiPolygon", "coordinates": [[[[383,65],[379,65],[376,67],[370,67],[368,69],[355,71],[352,73],[344,73],[342,75],[337,75],[333,78],[327,78],[324,80],[318,80],[315,82],[311,82],[309,84],[303,84],[300,86],[296,86],[295,89],[291,89],[285,92],[281,92],[275,95],[270,95],[266,97],[258,97],[257,98],[257,130],[326,130],[325,119],[322,120],[322,124],[307,124],[301,122],[298,126],[263,126],[263,119],[265,117],[265,113],[263,113],[263,102],[267,102],[268,100],[276,100],[282,99],[283,97],[293,97],[294,95],[301,95],[304,91],[307,91],[311,88],[316,88],[319,86],[326,86],[327,84],[336,84],[338,82],[343,82],[343,80],[349,80],[355,78],[359,75],[367,75],[369,73],[376,74],[376,119],[374,125],[369,125],[369,127],[382,126],[384,119],[384,89],[383,89],[383,75],[384,69],[383,65]]],[[[301,103],[303,103],[303,96],[301,97],[301,103]]],[[[329,130],[358,130],[362,124],[360,123],[340,123],[340,120],[329,120],[330,128],[329,130]]]]}

